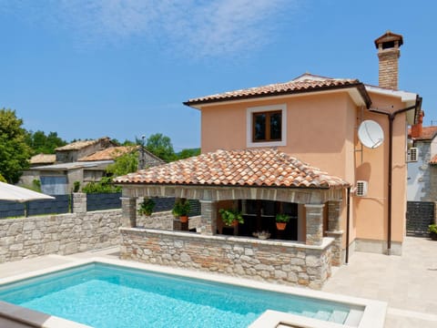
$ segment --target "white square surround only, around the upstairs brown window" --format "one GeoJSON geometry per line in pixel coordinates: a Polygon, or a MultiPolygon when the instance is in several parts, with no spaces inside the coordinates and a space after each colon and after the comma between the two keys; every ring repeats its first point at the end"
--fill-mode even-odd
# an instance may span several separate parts
{"type": "Polygon", "coordinates": [[[247,108],[246,110],[246,144],[248,148],[252,147],[276,147],[276,146],[287,146],[287,105],[269,105],[269,106],[258,106],[253,108],[247,108]],[[253,131],[252,131],[252,117],[253,113],[258,112],[268,112],[268,111],[281,111],[281,136],[280,141],[259,141],[253,142],[253,131]]]}

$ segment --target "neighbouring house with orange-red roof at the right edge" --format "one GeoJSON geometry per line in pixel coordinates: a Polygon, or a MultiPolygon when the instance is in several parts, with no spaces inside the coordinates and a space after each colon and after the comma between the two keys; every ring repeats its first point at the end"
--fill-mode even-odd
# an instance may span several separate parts
{"type": "Polygon", "coordinates": [[[422,127],[421,117],[409,138],[407,200],[437,201],[437,127],[422,127]]]}

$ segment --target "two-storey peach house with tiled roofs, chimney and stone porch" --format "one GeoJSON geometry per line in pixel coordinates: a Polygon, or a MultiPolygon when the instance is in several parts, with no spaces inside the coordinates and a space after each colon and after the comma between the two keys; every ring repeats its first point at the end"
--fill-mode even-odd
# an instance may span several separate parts
{"type": "Polygon", "coordinates": [[[185,102],[201,113],[202,154],[116,179],[127,227],[122,258],[320,288],[330,265],[352,251],[401,254],[406,130],[422,104],[398,90],[402,44],[391,32],[375,40],[378,87],[307,73],[185,102]],[[359,138],[368,120],[382,129],[377,148],[359,138]],[[199,200],[202,237],[129,228],[136,198],[153,196],[199,200]],[[231,238],[219,219],[230,208],[244,217],[231,238]],[[290,215],[286,231],[275,230],[279,213],[290,215]],[[265,230],[274,241],[251,238],[265,230]],[[183,261],[174,257],[180,245],[183,261]]]}

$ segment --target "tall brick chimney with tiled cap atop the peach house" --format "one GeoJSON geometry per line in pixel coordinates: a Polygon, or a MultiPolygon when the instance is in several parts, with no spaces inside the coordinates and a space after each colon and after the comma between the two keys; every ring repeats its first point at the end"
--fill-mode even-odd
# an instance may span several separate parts
{"type": "Polygon", "coordinates": [[[378,58],[380,58],[380,87],[387,87],[393,90],[398,89],[398,62],[401,56],[399,47],[402,44],[402,36],[390,31],[387,31],[375,40],[378,58]]]}

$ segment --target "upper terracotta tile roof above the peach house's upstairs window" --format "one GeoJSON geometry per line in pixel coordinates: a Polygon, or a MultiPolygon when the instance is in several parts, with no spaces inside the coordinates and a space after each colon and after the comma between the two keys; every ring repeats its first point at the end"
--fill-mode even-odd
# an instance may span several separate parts
{"type": "Polygon", "coordinates": [[[206,97],[196,97],[184,102],[187,106],[198,104],[234,100],[250,97],[271,97],[284,94],[321,91],[326,89],[357,87],[366,104],[371,104],[371,99],[364,85],[358,79],[318,77],[304,74],[289,82],[276,83],[263,87],[250,87],[235,91],[224,92],[206,97]]]}

